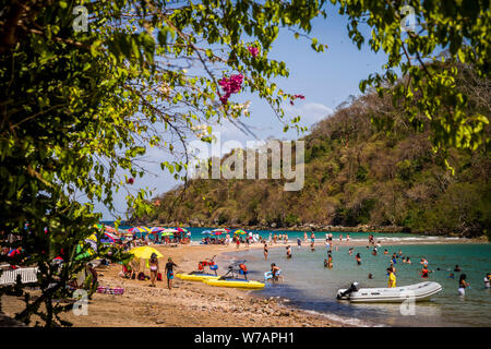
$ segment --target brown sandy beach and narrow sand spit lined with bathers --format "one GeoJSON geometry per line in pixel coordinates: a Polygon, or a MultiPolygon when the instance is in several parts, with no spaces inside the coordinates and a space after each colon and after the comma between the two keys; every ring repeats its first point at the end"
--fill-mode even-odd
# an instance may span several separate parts
{"type": "MultiPolygon", "coordinates": [[[[395,244],[434,244],[434,243],[486,243],[477,239],[430,239],[430,241],[381,241],[382,246],[395,244]],[[387,243],[388,242],[388,243],[387,243]]],[[[335,239],[336,240],[336,239],[335,239]]],[[[382,239],[381,239],[382,240],[382,239]]],[[[323,241],[323,240],[322,240],[323,241]]],[[[288,241],[288,244],[296,241],[288,241]]],[[[334,245],[367,245],[367,241],[352,239],[351,241],[334,241],[334,245]]],[[[272,249],[284,248],[287,243],[268,244],[272,249]]],[[[315,245],[321,245],[316,239],[315,245]]],[[[322,243],[323,245],[323,243],[322,243]]],[[[191,243],[170,248],[152,245],[164,257],[160,260],[160,270],[171,256],[179,272],[189,273],[196,267],[197,261],[216,255],[224,258],[236,252],[262,249],[262,243],[251,244],[239,249],[236,245],[204,245],[191,243]]],[[[302,248],[306,246],[302,241],[302,248]]],[[[193,282],[175,278],[172,290],[167,289],[167,282],[157,281],[157,287],[148,287],[149,281],[123,279],[118,276],[121,266],[111,264],[98,268],[99,285],[108,287],[123,287],[124,294],[95,293],[88,301],[88,314],[75,316],[72,312],[61,318],[73,323],[74,327],[358,327],[364,326],[354,321],[356,318],[340,318],[337,315],[316,313],[288,304],[285,298],[265,298],[254,294],[254,291],[212,287],[203,282],[193,282]]],[[[219,270],[224,272],[224,267],[219,270]]],[[[33,291],[35,294],[36,291],[33,291]]],[[[13,316],[21,310],[23,301],[16,297],[3,296],[2,310],[13,316]]],[[[33,317],[35,320],[35,317],[33,317]]],[[[34,325],[34,321],[32,325],[34,325]]],[[[371,326],[371,325],[367,325],[371,326]]]]}

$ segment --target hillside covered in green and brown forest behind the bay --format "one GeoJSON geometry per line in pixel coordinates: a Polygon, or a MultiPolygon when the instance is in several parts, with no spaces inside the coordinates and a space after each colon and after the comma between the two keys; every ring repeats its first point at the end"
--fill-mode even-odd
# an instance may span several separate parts
{"type": "MultiPolygon", "coordinates": [[[[470,94],[469,108],[489,118],[490,82],[459,70],[458,86],[470,94]]],[[[180,186],[156,197],[158,206],[143,220],[277,228],[397,226],[467,237],[489,231],[489,144],[474,152],[434,153],[428,133],[415,130],[418,120],[408,123],[395,105],[369,92],[312,128],[303,137],[306,182],[299,192],[284,191],[283,180],[192,180],[183,194],[180,186]]],[[[419,121],[431,122],[423,116],[419,121]]]]}

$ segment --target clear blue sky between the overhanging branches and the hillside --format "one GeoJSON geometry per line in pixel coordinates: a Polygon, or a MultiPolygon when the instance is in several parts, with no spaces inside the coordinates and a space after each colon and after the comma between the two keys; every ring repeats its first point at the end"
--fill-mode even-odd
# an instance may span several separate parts
{"type": "MultiPolygon", "coordinates": [[[[277,40],[274,43],[270,58],[283,60],[289,69],[288,79],[278,79],[275,82],[288,93],[301,94],[304,100],[297,100],[295,107],[285,104],[287,116],[302,117],[301,124],[311,127],[322,120],[350,95],[360,95],[359,83],[370,73],[381,72],[386,56],[383,52],[374,53],[367,45],[361,50],[348,37],[346,28],[347,17],[337,14],[334,8],[328,12],[326,20],[315,20],[313,29],[309,34],[328,48],[324,52],[315,52],[310,47],[310,40],[299,37],[294,33],[280,29],[277,40]]],[[[294,131],[283,132],[283,125],[277,120],[271,107],[259,97],[242,96],[251,100],[251,116],[243,120],[261,140],[297,139],[294,131]]],[[[242,98],[235,101],[243,101],[242,98]]],[[[250,135],[243,134],[230,123],[218,128],[221,132],[221,141],[236,140],[246,145],[246,141],[253,141],[250,135]]],[[[157,163],[168,159],[167,154],[160,154],[158,149],[151,149],[148,159],[156,160],[148,165],[148,169],[157,176],[147,174],[143,179],[136,179],[133,190],[147,188],[154,194],[164,193],[179,184],[168,172],[163,172],[157,163]]],[[[125,194],[120,192],[115,195],[116,207],[120,214],[125,212],[125,194]]],[[[113,217],[100,204],[96,204],[96,210],[103,213],[104,220],[113,217]]],[[[124,217],[122,216],[124,219],[124,217]]]]}

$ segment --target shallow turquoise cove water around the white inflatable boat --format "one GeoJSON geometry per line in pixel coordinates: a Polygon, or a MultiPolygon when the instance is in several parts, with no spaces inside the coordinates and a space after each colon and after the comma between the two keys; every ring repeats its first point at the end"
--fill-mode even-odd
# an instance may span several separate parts
{"type": "MultiPolygon", "coordinates": [[[[390,325],[390,326],[490,326],[491,325],[491,292],[484,289],[483,278],[491,272],[491,244],[424,244],[424,245],[382,245],[379,255],[371,254],[372,249],[356,246],[352,255],[348,248],[333,250],[334,266],[324,268],[326,250],[319,244],[314,252],[302,243],[300,250],[292,245],[292,258],[286,258],[284,248],[270,249],[268,260],[264,261],[262,250],[242,251],[228,254],[219,263],[221,270],[233,258],[248,261],[251,270],[250,279],[262,279],[270,264],[275,262],[282,270],[283,282],[266,284],[263,290],[254,291],[258,296],[282,297],[290,304],[347,320],[355,325],[390,325]],[[387,249],[390,255],[383,251],[387,249]],[[414,315],[402,315],[400,304],[351,304],[336,300],[336,291],[347,288],[352,281],[360,287],[386,287],[386,268],[394,252],[403,251],[410,256],[412,264],[398,262],[397,286],[417,284],[424,279],[420,277],[420,258],[429,261],[429,280],[442,285],[443,290],[426,302],[417,302],[414,315]],[[357,265],[355,256],[361,255],[361,265],[357,265]],[[462,273],[467,275],[470,288],[466,296],[457,294],[460,273],[453,272],[458,264],[462,273]],[[439,270],[440,269],[440,270],[439,270]],[[373,279],[368,278],[368,274],[373,279]],[[455,278],[447,278],[454,273],[455,278]]],[[[407,313],[407,309],[406,312],[407,313]]]]}

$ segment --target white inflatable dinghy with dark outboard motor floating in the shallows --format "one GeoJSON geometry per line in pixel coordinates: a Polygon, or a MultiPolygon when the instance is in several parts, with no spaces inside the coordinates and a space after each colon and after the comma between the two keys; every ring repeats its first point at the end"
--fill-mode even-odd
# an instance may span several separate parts
{"type": "Polygon", "coordinates": [[[358,288],[358,282],[354,282],[348,289],[338,290],[336,298],[351,302],[402,303],[405,300],[424,301],[441,290],[442,286],[432,281],[393,288],[358,288]]]}

